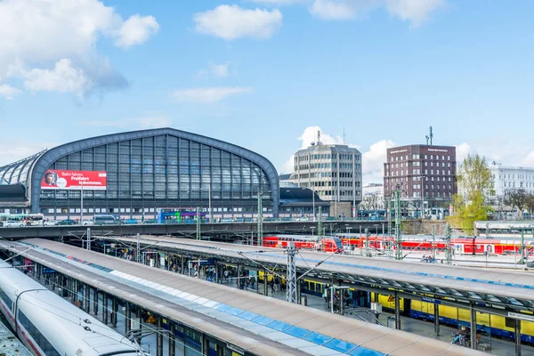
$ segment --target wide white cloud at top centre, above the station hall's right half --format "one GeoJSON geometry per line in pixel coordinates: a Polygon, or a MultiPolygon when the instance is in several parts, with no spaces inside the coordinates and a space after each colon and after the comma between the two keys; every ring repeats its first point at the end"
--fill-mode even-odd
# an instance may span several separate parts
{"type": "Polygon", "coordinates": [[[227,41],[239,37],[269,38],[282,25],[278,9],[247,10],[238,5],[219,5],[194,15],[195,30],[227,41]]]}

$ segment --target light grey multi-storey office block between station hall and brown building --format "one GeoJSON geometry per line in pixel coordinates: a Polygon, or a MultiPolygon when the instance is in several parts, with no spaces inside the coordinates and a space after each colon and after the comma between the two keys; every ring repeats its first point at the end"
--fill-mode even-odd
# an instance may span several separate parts
{"type": "MultiPolygon", "coordinates": [[[[361,201],[361,153],[347,145],[326,145],[312,142],[307,149],[295,153],[295,171],[290,181],[299,188],[310,188],[323,200],[349,202],[352,207],[361,201]]],[[[350,210],[350,209],[349,209],[350,210]]],[[[333,215],[342,214],[334,204],[333,215]]],[[[343,213],[345,214],[345,212],[343,213]]],[[[350,214],[350,213],[349,213],[350,214]]]]}

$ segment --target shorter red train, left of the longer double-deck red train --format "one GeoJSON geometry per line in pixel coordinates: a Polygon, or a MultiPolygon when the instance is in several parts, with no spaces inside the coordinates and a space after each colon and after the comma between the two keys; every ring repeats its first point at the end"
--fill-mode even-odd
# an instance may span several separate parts
{"type": "Polygon", "coordinates": [[[263,237],[264,247],[287,248],[290,241],[295,242],[296,248],[310,249],[329,253],[343,253],[341,239],[336,236],[328,236],[317,239],[316,236],[306,235],[272,235],[263,237]]]}

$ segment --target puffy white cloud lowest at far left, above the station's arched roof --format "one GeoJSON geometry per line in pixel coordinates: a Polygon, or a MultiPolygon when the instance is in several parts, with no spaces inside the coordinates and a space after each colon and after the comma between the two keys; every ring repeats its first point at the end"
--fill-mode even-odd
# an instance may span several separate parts
{"type": "Polygon", "coordinates": [[[93,82],[83,69],[72,67],[72,62],[62,59],[50,69],[31,69],[24,74],[24,86],[34,92],[77,93],[83,95],[93,88],[93,82]]]}

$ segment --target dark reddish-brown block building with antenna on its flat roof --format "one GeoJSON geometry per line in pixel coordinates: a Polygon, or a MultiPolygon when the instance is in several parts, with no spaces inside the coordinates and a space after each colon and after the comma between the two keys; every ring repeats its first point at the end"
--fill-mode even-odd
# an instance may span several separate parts
{"type": "Polygon", "coordinates": [[[442,207],[457,192],[456,163],[453,146],[416,144],[387,149],[384,197],[401,190],[403,200],[442,207]]]}

